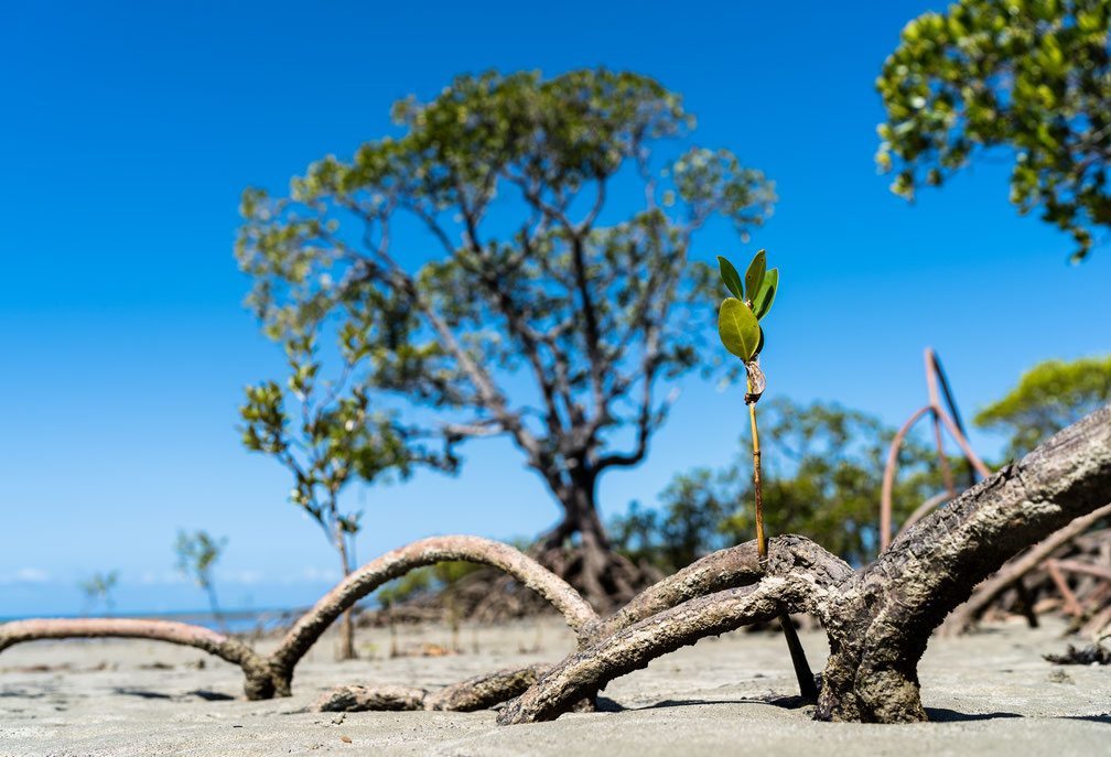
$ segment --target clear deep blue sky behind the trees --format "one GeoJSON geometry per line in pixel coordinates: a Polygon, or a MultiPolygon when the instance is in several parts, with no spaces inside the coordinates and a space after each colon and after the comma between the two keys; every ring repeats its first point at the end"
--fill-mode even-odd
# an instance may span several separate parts
{"type": "MultiPolygon", "coordinates": [[[[934,346],[967,414],[1049,357],[1105,354],[1111,252],[1008,203],[1005,155],[909,205],[872,155],[872,82],[902,26],[941,3],[20,3],[0,28],[0,616],[74,613],[76,583],[119,569],[118,610],[182,609],[179,527],[227,536],[229,606],[313,600],[338,576],[290,481],[234,431],[242,386],[281,354],[242,310],[239,193],[281,192],[327,153],[391,130],[390,104],[460,72],[605,65],[659,79],[777,182],[750,245],[712,228],[693,254],[767,248],[782,272],[772,393],[898,423],[934,346]]],[[[607,517],[678,471],[724,464],[737,392],[684,384],[607,517]]],[[[999,440],[974,434],[987,453],[999,440]]],[[[531,535],[556,504],[507,442],[460,476],[357,488],[360,561],[436,533],[531,535]],[[497,496],[491,497],[491,482],[497,496]]]]}

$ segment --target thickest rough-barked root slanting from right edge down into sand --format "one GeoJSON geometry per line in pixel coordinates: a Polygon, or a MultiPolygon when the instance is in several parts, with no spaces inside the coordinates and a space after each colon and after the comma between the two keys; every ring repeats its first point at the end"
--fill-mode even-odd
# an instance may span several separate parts
{"type": "Polygon", "coordinates": [[[931,632],[1011,556],[1107,503],[1111,406],[1058,433],[895,539],[834,595],[817,717],[924,720],[918,662],[931,632]]]}

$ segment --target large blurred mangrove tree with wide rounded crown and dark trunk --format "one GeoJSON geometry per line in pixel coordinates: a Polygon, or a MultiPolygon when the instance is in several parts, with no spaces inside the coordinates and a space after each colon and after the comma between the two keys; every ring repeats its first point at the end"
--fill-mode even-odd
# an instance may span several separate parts
{"type": "MultiPolygon", "coordinates": [[[[243,193],[250,305],[287,345],[314,350],[308,335],[331,329],[344,366],[333,387],[431,411],[419,428],[383,426],[390,451],[438,434],[454,460],[460,441],[512,438],[563,508],[543,544],[581,536],[587,594],[628,594],[609,569],[598,477],[643,460],[671,402],[661,381],[708,362],[714,287],[691,235],[718,214],[743,236],[770,212],[771,185],[724,150],[653,160],[691,117],[632,73],[460,77],[394,117],[400,138],[312,164],[290,196],[243,193]]],[[[291,381],[318,381],[311,364],[291,364],[291,381]]],[[[250,400],[286,422],[273,392],[250,400]]]]}

